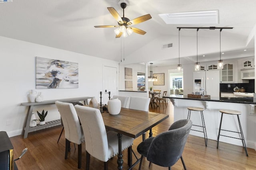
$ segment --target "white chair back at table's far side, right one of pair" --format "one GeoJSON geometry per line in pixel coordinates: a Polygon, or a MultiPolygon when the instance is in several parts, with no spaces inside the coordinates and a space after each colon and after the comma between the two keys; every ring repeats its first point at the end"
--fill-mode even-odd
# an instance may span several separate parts
{"type": "Polygon", "coordinates": [[[148,111],[149,103],[150,98],[131,96],[129,109],[148,111]]]}

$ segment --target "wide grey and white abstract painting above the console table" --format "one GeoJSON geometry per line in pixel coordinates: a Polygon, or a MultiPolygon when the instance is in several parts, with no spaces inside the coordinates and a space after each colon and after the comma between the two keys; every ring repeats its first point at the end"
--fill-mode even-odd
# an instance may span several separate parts
{"type": "Polygon", "coordinates": [[[78,88],[78,63],[36,57],[36,88],[78,88]]]}

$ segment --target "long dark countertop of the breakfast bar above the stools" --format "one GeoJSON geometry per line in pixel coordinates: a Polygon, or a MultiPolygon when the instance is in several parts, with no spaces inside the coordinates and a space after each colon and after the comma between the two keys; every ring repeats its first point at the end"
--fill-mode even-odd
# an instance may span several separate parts
{"type": "Polygon", "coordinates": [[[170,99],[186,99],[186,100],[202,100],[202,101],[212,101],[212,102],[228,102],[228,103],[240,103],[240,104],[256,104],[256,99],[250,97],[244,98],[221,98],[221,97],[211,97],[211,98],[189,98],[187,95],[176,95],[171,94],[170,96],[164,96],[164,98],[170,99]]]}

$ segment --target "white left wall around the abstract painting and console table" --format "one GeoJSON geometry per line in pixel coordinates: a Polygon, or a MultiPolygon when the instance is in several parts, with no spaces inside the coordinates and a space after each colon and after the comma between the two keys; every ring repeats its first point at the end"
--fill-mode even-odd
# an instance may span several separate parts
{"type": "MultiPolygon", "coordinates": [[[[0,37],[0,47],[0,131],[6,131],[9,137],[22,133],[28,108],[20,106],[20,103],[29,102],[29,90],[36,88],[36,56],[71,61],[79,65],[79,88],[36,89],[42,92],[43,100],[96,96],[99,101],[100,91],[103,91],[103,65],[118,68],[118,62],[115,61],[6,37],[0,37]],[[6,121],[10,125],[6,125],[6,121]]],[[[35,107],[34,111],[42,109],[48,110],[46,121],[60,119],[55,105],[35,107]]]]}

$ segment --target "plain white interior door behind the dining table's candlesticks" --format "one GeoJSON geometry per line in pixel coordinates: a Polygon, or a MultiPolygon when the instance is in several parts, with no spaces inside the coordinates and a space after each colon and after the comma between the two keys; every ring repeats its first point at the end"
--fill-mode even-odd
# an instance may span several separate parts
{"type": "Polygon", "coordinates": [[[109,100],[109,93],[110,97],[112,98],[113,95],[117,95],[117,68],[111,66],[104,66],[103,68],[103,104],[108,104],[109,100]]]}

